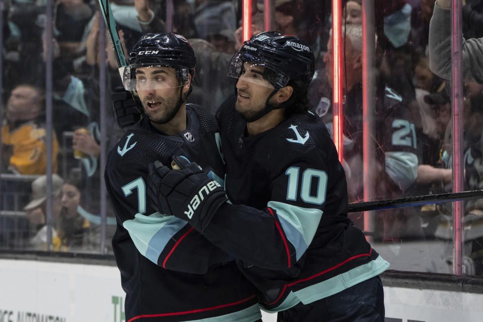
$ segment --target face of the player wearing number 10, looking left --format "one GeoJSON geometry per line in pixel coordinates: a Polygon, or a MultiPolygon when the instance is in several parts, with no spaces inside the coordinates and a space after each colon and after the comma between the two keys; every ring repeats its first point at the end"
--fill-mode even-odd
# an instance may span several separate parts
{"type": "Polygon", "coordinates": [[[265,109],[265,103],[274,87],[263,78],[265,67],[249,62],[243,64],[243,71],[236,82],[236,112],[245,119],[251,119],[265,109]]]}

